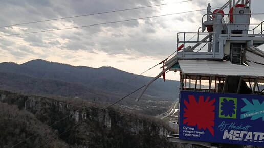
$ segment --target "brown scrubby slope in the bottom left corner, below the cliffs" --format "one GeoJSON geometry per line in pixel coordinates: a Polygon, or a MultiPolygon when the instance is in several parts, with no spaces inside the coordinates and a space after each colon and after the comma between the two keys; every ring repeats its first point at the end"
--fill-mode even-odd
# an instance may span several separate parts
{"type": "MultiPolygon", "coordinates": [[[[16,105],[1,102],[0,131],[0,147],[14,146],[35,134],[18,147],[37,147],[55,136],[53,130],[37,120],[33,114],[26,110],[19,110],[16,105]]],[[[68,144],[56,139],[45,147],[68,147],[68,144]]]]}

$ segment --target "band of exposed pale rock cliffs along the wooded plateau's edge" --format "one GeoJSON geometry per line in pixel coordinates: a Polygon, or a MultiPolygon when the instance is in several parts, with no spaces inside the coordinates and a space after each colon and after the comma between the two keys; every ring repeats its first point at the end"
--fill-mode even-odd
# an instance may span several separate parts
{"type": "MultiPolygon", "coordinates": [[[[3,94],[5,96],[5,94],[3,94]]],[[[69,118],[71,118],[75,124],[86,120],[87,118],[93,117],[94,110],[100,111],[99,108],[93,107],[83,107],[81,109],[80,106],[74,106],[68,103],[60,102],[51,100],[48,98],[37,97],[37,96],[29,96],[28,99],[25,101],[24,109],[30,110],[33,113],[37,113],[38,111],[42,110],[43,108],[56,108],[57,112],[60,114],[69,114],[69,118]],[[79,108],[78,108],[79,107],[79,108]]],[[[96,114],[96,113],[95,113],[96,114]]],[[[131,117],[131,115],[126,114],[127,117],[131,117]]],[[[109,116],[109,109],[99,113],[95,118],[95,121],[98,121],[101,125],[105,126],[106,128],[111,129],[111,122],[116,119],[112,119],[109,116]]],[[[151,127],[149,125],[144,125],[144,121],[137,118],[134,121],[128,122],[127,125],[122,121],[118,121],[117,123],[113,123],[119,127],[125,127],[126,131],[130,131],[133,134],[139,134],[140,132],[144,131],[145,129],[151,131],[153,128],[158,128],[159,136],[167,136],[170,132],[164,128],[162,125],[158,127],[151,127]]],[[[154,134],[154,133],[153,133],[154,134]]]]}

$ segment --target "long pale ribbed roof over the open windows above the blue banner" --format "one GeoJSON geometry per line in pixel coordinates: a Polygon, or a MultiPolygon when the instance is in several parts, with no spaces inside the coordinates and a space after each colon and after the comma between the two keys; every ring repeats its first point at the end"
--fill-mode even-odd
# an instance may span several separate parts
{"type": "Polygon", "coordinates": [[[232,64],[230,61],[178,60],[181,71],[193,75],[264,77],[264,69],[232,64]]]}

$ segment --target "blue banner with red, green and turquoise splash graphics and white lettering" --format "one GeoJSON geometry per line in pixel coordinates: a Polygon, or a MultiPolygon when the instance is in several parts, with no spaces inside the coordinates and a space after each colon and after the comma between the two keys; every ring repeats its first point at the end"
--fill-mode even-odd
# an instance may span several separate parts
{"type": "Polygon", "coordinates": [[[264,95],[181,91],[179,138],[264,146],[264,95]]]}

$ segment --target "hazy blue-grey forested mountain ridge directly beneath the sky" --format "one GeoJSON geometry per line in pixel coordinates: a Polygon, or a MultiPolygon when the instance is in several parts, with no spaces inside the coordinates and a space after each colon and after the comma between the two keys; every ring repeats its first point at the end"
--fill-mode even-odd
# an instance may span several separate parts
{"type": "MultiPolygon", "coordinates": [[[[139,76],[112,67],[71,66],[41,59],[23,64],[0,63],[0,88],[17,92],[61,95],[65,97],[119,97],[143,86],[151,77],[139,76]]],[[[158,79],[146,95],[174,100],[178,81],[158,79]]],[[[135,96],[134,96],[135,97],[135,96]]]]}

